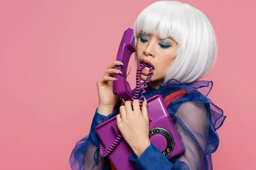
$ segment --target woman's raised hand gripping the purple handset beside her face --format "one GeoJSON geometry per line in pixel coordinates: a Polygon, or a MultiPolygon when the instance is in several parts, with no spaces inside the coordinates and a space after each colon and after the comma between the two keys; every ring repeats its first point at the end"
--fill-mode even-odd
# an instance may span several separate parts
{"type": "MultiPolygon", "coordinates": [[[[123,65],[122,62],[113,61],[105,72],[104,76],[97,81],[99,106],[98,113],[108,116],[113,112],[116,102],[120,99],[118,95],[113,94],[113,74],[120,74],[121,71],[114,69],[115,66],[123,65]]],[[[131,72],[131,67],[127,69],[127,76],[131,72]]]]}

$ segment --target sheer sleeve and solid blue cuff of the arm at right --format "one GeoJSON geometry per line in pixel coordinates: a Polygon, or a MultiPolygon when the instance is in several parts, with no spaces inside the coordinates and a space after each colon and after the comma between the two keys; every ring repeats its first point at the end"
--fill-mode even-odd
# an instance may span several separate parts
{"type": "MultiPolygon", "coordinates": [[[[209,119],[205,105],[193,101],[183,102],[177,109],[174,122],[182,139],[184,153],[176,159],[166,156],[151,145],[137,159],[130,156],[135,170],[206,170],[205,153],[209,132],[209,119]]],[[[210,169],[210,168],[209,168],[210,169]]],[[[208,170],[208,169],[207,169],[208,170]]]]}

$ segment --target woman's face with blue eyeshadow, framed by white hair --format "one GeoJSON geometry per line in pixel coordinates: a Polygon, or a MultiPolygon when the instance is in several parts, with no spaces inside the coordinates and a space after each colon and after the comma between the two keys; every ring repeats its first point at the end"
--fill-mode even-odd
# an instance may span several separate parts
{"type": "MultiPolygon", "coordinates": [[[[169,70],[170,65],[175,59],[175,51],[177,43],[171,38],[161,40],[157,38],[157,31],[154,34],[140,34],[136,44],[137,66],[142,62],[153,66],[153,74],[151,74],[151,88],[158,88],[160,83],[169,70]]],[[[149,71],[147,68],[143,69],[141,79],[143,81],[148,77],[149,71]]]]}

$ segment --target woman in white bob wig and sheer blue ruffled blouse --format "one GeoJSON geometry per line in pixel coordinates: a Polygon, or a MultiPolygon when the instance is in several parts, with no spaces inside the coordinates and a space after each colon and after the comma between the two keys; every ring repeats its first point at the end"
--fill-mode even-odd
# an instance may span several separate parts
{"type": "MultiPolygon", "coordinates": [[[[199,81],[209,73],[217,57],[215,33],[209,20],[188,4],[160,1],[138,16],[134,37],[136,65],[147,62],[154,67],[145,99],[156,94],[163,97],[182,139],[184,153],[168,160],[150,142],[146,102],[141,111],[137,109],[139,100],[134,100],[133,106],[125,102],[120,107],[121,101],[113,95],[112,85],[113,74],[120,73],[114,67],[122,63],[114,61],[97,82],[99,106],[89,136],[77,142],[70,156],[71,168],[114,169],[108,158],[99,156],[95,127],[117,115],[119,130],[134,152],[129,159],[135,169],[211,170],[211,153],[219,144],[216,130],[226,116],[207,98],[212,82],[199,81]]],[[[129,68],[127,73],[130,71],[129,68]]],[[[142,73],[141,79],[145,81],[148,71],[143,69],[142,73]]]]}

